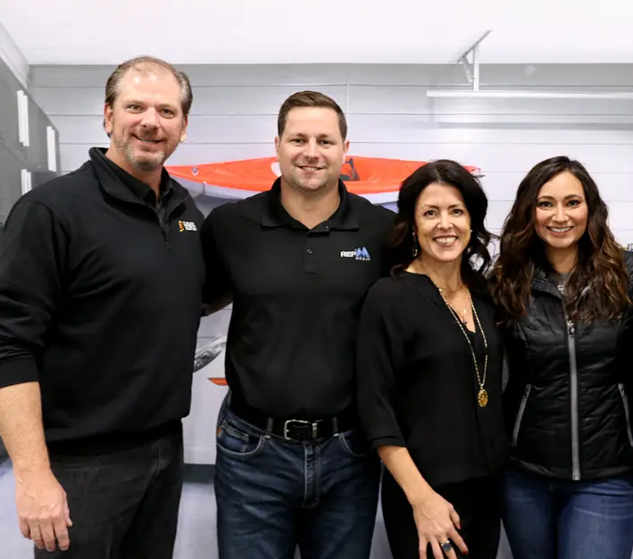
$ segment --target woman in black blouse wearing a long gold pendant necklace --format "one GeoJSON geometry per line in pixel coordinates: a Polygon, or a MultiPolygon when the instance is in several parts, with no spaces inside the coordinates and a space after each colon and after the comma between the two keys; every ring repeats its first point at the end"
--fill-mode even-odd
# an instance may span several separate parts
{"type": "Polygon", "coordinates": [[[507,440],[486,212],[458,163],[413,172],[398,198],[397,266],[362,308],[359,410],[387,466],[382,510],[396,559],[496,557],[507,440]]]}

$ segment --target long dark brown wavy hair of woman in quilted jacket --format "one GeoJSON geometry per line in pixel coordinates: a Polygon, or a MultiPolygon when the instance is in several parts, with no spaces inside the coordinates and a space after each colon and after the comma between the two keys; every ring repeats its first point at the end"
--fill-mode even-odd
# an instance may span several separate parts
{"type": "Polygon", "coordinates": [[[587,201],[587,230],[579,239],[577,266],[567,284],[567,313],[591,323],[621,316],[630,303],[624,251],[607,224],[608,210],[596,182],[579,161],[557,156],[541,161],[523,178],[505,219],[491,275],[491,292],[505,324],[525,316],[537,269],[550,268],[545,243],[535,231],[537,196],[543,185],[565,171],[579,179],[587,201]],[[590,285],[595,289],[586,289],[590,285]]]}

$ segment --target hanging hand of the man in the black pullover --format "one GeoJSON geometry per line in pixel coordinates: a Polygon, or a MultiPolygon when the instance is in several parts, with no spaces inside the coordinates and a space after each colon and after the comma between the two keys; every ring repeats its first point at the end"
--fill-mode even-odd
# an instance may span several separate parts
{"type": "Polygon", "coordinates": [[[66,492],[51,470],[16,471],[15,502],[22,536],[39,549],[68,549],[71,514],[66,492]]]}

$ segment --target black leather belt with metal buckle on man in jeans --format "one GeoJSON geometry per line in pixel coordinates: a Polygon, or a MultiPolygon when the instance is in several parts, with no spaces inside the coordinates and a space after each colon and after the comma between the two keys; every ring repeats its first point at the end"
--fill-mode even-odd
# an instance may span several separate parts
{"type": "Polygon", "coordinates": [[[356,429],[360,423],[358,416],[351,408],[336,416],[322,417],[320,419],[283,419],[270,417],[254,407],[229,404],[230,410],[240,419],[250,423],[254,427],[268,432],[271,421],[271,433],[286,440],[317,440],[332,437],[337,432],[356,429]]]}

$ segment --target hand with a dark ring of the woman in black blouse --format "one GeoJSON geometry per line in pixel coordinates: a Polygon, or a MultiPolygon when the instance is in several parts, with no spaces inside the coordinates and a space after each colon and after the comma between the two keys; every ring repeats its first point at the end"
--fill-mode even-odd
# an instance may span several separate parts
{"type": "Polygon", "coordinates": [[[433,549],[435,559],[443,559],[445,556],[448,559],[457,559],[453,546],[459,547],[462,554],[468,554],[468,547],[457,531],[462,527],[459,514],[444,497],[429,489],[426,495],[412,503],[412,509],[415,525],[418,528],[420,559],[428,559],[429,544],[433,549]]]}

